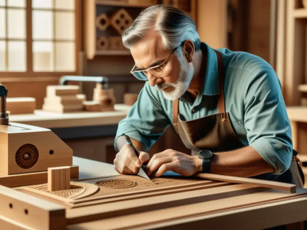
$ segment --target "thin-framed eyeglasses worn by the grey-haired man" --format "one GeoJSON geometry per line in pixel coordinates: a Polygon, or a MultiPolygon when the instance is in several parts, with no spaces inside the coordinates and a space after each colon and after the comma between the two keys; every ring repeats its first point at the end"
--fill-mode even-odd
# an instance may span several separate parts
{"type": "Polygon", "coordinates": [[[132,75],[134,75],[134,77],[136,77],[137,79],[143,80],[143,81],[148,80],[147,79],[148,72],[150,72],[151,74],[153,74],[153,75],[155,75],[157,77],[163,77],[164,76],[164,69],[163,69],[163,67],[165,67],[165,65],[167,64],[168,59],[170,58],[170,56],[172,56],[172,54],[177,50],[178,47],[176,47],[173,50],[173,52],[169,55],[169,57],[163,63],[161,63],[161,64],[159,64],[157,66],[149,67],[147,69],[138,69],[138,67],[136,67],[136,65],[134,65],[134,67],[132,68],[130,73],[132,75]]]}

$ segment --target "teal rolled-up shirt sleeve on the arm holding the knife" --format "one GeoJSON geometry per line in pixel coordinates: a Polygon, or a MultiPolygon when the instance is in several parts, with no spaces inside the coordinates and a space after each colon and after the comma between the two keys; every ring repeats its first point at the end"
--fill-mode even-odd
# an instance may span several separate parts
{"type": "Polygon", "coordinates": [[[119,122],[114,143],[117,152],[116,139],[119,136],[126,134],[140,141],[148,150],[170,124],[157,92],[153,90],[146,82],[128,115],[119,122]]]}

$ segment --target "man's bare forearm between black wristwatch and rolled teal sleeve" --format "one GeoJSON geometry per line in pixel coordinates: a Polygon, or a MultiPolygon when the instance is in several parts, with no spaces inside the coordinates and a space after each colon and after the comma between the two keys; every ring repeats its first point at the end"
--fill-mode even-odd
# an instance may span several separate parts
{"type": "MultiPolygon", "coordinates": [[[[197,167],[201,169],[201,160],[196,159],[196,161],[198,162],[197,167]]],[[[210,168],[213,174],[240,177],[251,177],[275,171],[251,146],[215,153],[210,168]]]]}

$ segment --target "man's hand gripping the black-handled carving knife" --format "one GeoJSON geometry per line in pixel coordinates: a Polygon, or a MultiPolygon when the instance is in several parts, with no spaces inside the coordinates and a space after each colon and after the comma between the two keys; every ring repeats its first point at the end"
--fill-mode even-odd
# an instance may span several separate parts
{"type": "Polygon", "coordinates": [[[115,170],[120,174],[137,174],[143,163],[149,160],[146,152],[138,151],[138,155],[130,144],[125,144],[114,159],[115,170]]]}

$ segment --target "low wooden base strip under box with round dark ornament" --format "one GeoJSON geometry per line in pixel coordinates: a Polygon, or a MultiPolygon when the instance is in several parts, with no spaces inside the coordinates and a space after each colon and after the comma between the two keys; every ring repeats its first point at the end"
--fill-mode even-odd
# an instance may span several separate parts
{"type": "MultiPolygon", "coordinates": [[[[79,166],[70,167],[70,178],[79,178],[79,166]]],[[[6,187],[18,187],[27,185],[44,184],[48,182],[48,171],[1,175],[0,185],[6,187]]]]}

